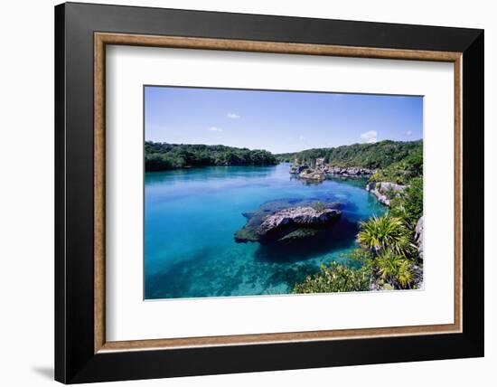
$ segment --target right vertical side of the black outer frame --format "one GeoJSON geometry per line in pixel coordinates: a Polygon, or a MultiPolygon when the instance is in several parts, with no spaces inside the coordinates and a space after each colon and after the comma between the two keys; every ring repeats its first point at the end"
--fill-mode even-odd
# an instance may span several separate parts
{"type": "Polygon", "coordinates": [[[463,334],[484,356],[484,31],[463,52],[463,334]],[[468,157],[467,155],[471,156],[468,157]],[[464,189],[466,187],[466,189],[464,189]],[[467,189],[470,187],[471,189],[467,189]],[[472,222],[464,222],[471,219],[472,222]]]}

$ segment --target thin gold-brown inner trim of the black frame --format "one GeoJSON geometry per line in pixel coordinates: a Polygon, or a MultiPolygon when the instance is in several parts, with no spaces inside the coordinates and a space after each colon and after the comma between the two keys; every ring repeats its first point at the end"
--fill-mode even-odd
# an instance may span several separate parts
{"type": "Polygon", "coordinates": [[[462,332],[462,52],[345,47],[324,44],[254,42],[124,33],[94,33],[94,352],[174,349],[214,345],[247,345],[322,341],[399,335],[436,335],[462,332]],[[220,50],[293,53],[356,58],[446,61],[455,66],[455,316],[454,324],[394,326],[255,335],[221,335],[154,340],[106,341],[105,333],[105,47],[107,44],[220,50]]]}

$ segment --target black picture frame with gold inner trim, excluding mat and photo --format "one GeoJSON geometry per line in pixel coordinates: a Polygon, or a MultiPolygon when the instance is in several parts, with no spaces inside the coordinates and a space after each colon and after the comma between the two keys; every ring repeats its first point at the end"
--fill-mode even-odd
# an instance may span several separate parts
{"type": "Polygon", "coordinates": [[[57,5],[55,379],[106,382],[483,356],[483,88],[483,30],[57,5]],[[454,63],[454,324],[107,341],[107,45],[454,63]]]}

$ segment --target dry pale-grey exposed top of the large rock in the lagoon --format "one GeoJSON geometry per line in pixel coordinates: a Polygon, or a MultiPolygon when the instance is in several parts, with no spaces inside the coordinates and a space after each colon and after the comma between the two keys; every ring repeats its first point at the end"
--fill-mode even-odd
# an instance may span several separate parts
{"type": "Polygon", "coordinates": [[[292,226],[321,227],[335,221],[341,212],[333,208],[292,207],[267,215],[258,226],[257,233],[265,237],[270,233],[292,226]]]}

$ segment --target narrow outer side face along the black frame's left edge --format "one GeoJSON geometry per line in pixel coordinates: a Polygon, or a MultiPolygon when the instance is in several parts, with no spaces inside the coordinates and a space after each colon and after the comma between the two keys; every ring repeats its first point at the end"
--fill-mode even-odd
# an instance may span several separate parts
{"type": "Polygon", "coordinates": [[[54,119],[55,119],[55,160],[54,160],[54,192],[55,192],[55,348],[54,378],[57,382],[68,382],[66,352],[66,254],[65,254],[65,5],[54,8],[54,119]]]}

